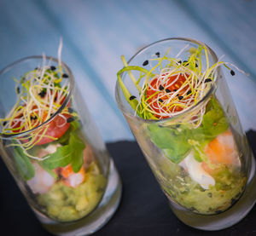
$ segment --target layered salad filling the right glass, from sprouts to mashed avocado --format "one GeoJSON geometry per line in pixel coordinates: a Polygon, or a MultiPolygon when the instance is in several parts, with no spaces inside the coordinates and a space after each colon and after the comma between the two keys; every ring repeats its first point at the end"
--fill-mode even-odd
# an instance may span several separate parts
{"type": "Polygon", "coordinates": [[[163,55],[156,51],[135,66],[121,59],[119,87],[148,147],[160,153],[147,155],[167,197],[203,215],[229,209],[247,182],[238,134],[215,94],[220,66],[235,75],[230,63],[210,63],[203,45],[186,46],[174,57],[169,50],[163,55]]]}

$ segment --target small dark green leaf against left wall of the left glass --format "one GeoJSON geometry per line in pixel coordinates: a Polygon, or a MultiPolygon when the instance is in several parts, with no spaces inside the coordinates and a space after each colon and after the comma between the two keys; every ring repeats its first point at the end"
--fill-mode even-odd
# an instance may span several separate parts
{"type": "Polygon", "coordinates": [[[35,176],[34,167],[32,166],[31,160],[23,153],[20,147],[15,147],[14,158],[20,176],[26,181],[32,179],[35,176]]]}

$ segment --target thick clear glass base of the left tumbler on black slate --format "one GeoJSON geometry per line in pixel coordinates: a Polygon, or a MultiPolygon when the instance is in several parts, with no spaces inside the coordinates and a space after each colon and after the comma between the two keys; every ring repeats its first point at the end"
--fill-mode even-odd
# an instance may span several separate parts
{"type": "Polygon", "coordinates": [[[121,198],[122,184],[119,173],[116,170],[113,160],[110,160],[108,186],[101,203],[90,215],[85,216],[76,222],[55,222],[35,210],[38,220],[44,228],[55,235],[62,236],[84,236],[95,233],[103,227],[117,210],[121,198]]]}

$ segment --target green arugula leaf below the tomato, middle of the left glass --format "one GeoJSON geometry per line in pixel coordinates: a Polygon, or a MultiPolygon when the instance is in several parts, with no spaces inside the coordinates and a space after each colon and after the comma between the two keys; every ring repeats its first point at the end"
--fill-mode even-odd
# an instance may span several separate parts
{"type": "Polygon", "coordinates": [[[44,159],[43,165],[49,170],[57,167],[65,167],[71,164],[74,172],[79,172],[84,163],[84,141],[75,132],[68,132],[69,138],[67,145],[57,147],[55,153],[44,159]]]}

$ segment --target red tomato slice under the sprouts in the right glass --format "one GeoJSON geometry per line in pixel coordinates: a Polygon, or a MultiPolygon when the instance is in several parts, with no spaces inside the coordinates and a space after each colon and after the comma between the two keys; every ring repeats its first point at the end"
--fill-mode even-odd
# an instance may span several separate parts
{"type": "MultiPolygon", "coordinates": [[[[186,75],[189,76],[189,75],[186,75]]],[[[179,74],[179,75],[173,75],[170,76],[166,81],[167,84],[165,85],[165,87],[163,87],[162,89],[160,89],[157,86],[160,86],[159,84],[157,84],[158,79],[157,78],[153,78],[150,82],[150,85],[153,87],[150,88],[148,87],[148,89],[146,90],[146,96],[148,98],[148,104],[149,106],[154,110],[154,112],[160,112],[161,110],[164,111],[170,111],[170,112],[180,112],[183,110],[183,107],[181,106],[172,106],[172,107],[168,107],[168,106],[159,106],[160,102],[157,101],[157,97],[159,95],[159,93],[162,94],[161,96],[161,100],[165,101],[167,99],[169,99],[169,95],[168,93],[175,91],[175,89],[179,89],[183,83],[186,81],[186,78],[183,74],[179,74]],[[178,76],[178,78],[177,78],[178,76]],[[174,80],[177,81],[175,83],[172,83],[174,80]],[[172,83],[172,84],[171,84],[172,83]]],[[[189,85],[185,86],[181,93],[185,92],[187,89],[189,88],[189,85]]],[[[157,118],[168,118],[168,116],[160,116],[158,114],[154,114],[155,117],[157,118]]]]}

